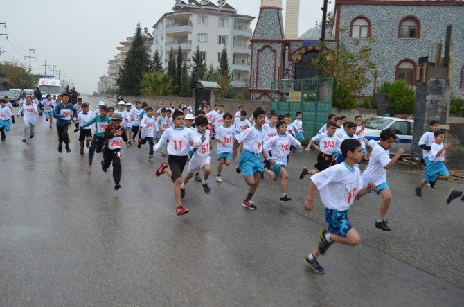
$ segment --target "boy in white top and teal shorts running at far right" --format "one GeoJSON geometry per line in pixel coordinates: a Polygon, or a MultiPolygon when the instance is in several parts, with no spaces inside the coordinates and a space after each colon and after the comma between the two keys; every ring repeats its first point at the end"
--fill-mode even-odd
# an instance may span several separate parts
{"type": "Polygon", "coordinates": [[[445,150],[451,147],[451,143],[443,144],[443,141],[445,141],[445,132],[436,130],[424,170],[424,179],[416,187],[416,195],[418,196],[422,196],[422,187],[427,182],[435,183],[437,180],[449,179],[449,171],[445,166],[445,150]]]}

